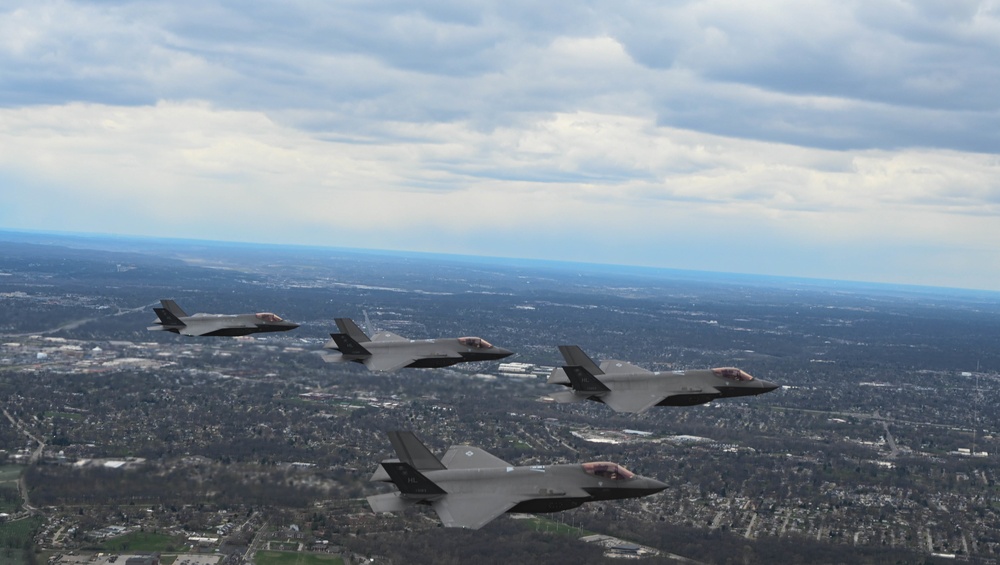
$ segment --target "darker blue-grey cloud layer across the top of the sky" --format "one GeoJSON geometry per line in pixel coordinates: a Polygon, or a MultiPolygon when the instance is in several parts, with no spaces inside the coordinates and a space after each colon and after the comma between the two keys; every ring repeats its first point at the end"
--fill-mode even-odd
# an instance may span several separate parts
{"type": "Polygon", "coordinates": [[[492,127],[619,105],[812,147],[1000,150],[992,2],[30,1],[0,26],[8,106],[198,99],[492,127]]]}

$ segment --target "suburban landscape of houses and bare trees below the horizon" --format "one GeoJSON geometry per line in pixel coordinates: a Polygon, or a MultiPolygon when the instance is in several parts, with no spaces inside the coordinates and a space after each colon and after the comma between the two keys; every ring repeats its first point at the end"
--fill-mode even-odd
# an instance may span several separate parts
{"type": "Polygon", "coordinates": [[[588,264],[0,233],[0,562],[996,563],[1000,294],[588,264]],[[274,312],[247,337],[153,307],[274,312]],[[334,318],[501,362],[326,363],[334,318]],[[782,385],[635,415],[556,404],[579,345],[782,385]],[[386,431],[669,488],[444,529],[374,514],[386,431]]]}

